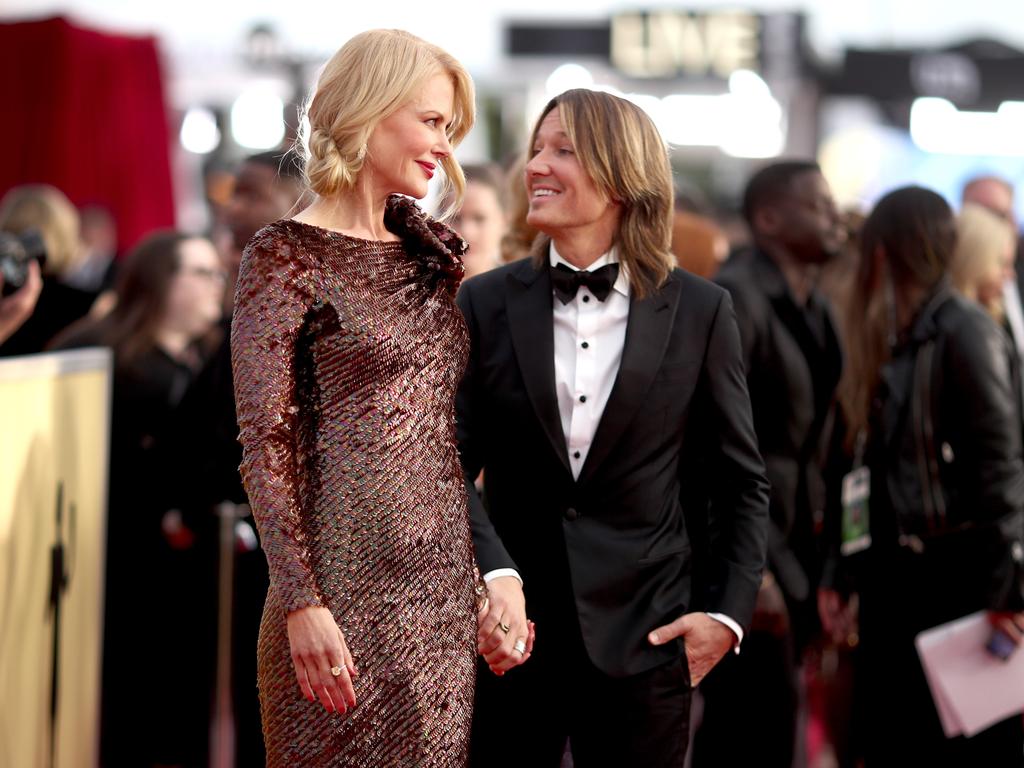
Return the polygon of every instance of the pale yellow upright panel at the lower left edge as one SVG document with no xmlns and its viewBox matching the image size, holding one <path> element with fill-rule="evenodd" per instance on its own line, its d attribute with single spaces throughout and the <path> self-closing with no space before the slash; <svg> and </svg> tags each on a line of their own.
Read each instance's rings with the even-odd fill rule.
<svg viewBox="0 0 1024 768">
<path fill-rule="evenodd" d="M 0 765 L 98 761 L 110 354 L 0 360 Z M 58 487 L 62 488 L 57 525 Z M 66 552 L 50 726 L 54 548 Z"/>
</svg>

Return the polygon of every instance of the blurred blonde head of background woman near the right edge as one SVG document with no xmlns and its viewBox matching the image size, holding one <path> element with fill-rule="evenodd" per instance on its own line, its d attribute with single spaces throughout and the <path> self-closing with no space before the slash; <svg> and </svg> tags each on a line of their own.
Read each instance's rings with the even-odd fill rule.
<svg viewBox="0 0 1024 768">
<path fill-rule="evenodd" d="M 1006 325 L 1002 286 L 1013 278 L 1017 239 L 994 213 L 968 203 L 956 217 L 956 248 L 949 262 L 953 287 Z"/>
</svg>

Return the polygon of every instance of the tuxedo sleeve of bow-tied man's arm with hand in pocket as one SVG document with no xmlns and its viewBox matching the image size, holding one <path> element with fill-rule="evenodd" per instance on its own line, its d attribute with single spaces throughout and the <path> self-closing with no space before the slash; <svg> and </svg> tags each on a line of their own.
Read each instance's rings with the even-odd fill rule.
<svg viewBox="0 0 1024 768">
<path fill-rule="evenodd" d="M 765 565 L 768 481 L 754 432 L 742 354 L 732 300 L 723 291 L 703 371 L 711 411 L 707 449 L 718 452 L 710 489 L 707 609 L 749 628 Z"/>
</svg>

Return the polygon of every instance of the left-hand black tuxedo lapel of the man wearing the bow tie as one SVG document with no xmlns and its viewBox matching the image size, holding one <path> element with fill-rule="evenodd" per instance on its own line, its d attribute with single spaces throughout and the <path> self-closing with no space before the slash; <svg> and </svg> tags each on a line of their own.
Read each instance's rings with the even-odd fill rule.
<svg viewBox="0 0 1024 768">
<path fill-rule="evenodd" d="M 547 239 L 539 239 L 535 253 L 541 247 L 547 253 Z M 526 394 L 544 427 L 551 447 L 566 471 L 569 457 L 562 434 L 562 420 L 558 413 L 555 394 L 555 335 L 551 309 L 551 276 L 546 268 L 532 266 L 534 260 L 523 264 L 523 269 L 506 279 L 506 309 L 509 333 L 515 349 L 519 373 L 522 375 Z"/>
</svg>

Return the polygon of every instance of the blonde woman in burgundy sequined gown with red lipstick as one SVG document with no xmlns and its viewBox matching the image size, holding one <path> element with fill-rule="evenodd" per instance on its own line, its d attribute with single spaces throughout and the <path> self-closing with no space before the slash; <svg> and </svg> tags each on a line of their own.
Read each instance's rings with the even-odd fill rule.
<svg viewBox="0 0 1024 768">
<path fill-rule="evenodd" d="M 465 245 L 408 198 L 473 124 L 473 86 L 404 32 L 352 38 L 308 108 L 314 202 L 250 241 L 231 351 L 242 474 L 270 567 L 270 766 L 458 766 L 476 579 L 454 397 Z"/>
</svg>

